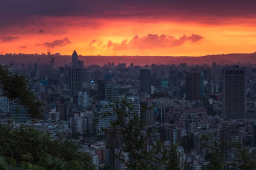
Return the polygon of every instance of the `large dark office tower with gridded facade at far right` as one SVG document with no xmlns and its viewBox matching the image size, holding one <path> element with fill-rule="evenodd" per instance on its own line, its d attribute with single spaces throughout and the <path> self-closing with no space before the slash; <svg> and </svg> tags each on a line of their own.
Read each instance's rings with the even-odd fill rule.
<svg viewBox="0 0 256 170">
<path fill-rule="evenodd" d="M 229 66 L 222 69 L 223 114 L 246 113 L 246 67 Z"/>
</svg>

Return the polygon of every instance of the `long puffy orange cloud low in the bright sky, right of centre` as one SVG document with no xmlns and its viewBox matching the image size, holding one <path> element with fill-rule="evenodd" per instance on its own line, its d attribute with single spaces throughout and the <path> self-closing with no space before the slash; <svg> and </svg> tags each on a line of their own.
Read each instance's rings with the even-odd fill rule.
<svg viewBox="0 0 256 170">
<path fill-rule="evenodd" d="M 131 40 L 124 39 L 120 43 L 113 43 L 108 41 L 104 47 L 112 48 L 113 50 L 132 50 L 136 49 L 152 49 L 152 48 L 172 48 L 173 46 L 182 46 L 184 43 L 190 41 L 191 43 L 196 43 L 200 41 L 203 37 L 198 34 L 192 34 L 191 36 L 180 36 L 175 38 L 169 35 L 158 35 L 158 34 L 148 34 L 147 36 L 139 37 L 134 36 Z M 95 39 L 92 43 L 97 42 Z"/>
</svg>

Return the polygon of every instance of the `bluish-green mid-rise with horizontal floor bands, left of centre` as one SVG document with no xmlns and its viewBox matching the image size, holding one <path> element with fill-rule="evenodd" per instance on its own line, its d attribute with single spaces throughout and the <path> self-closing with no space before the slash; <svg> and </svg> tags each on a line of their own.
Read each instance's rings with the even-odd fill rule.
<svg viewBox="0 0 256 170">
<path fill-rule="evenodd" d="M 118 101 L 120 96 L 120 87 L 118 85 L 107 85 L 106 100 L 109 102 Z"/>
</svg>

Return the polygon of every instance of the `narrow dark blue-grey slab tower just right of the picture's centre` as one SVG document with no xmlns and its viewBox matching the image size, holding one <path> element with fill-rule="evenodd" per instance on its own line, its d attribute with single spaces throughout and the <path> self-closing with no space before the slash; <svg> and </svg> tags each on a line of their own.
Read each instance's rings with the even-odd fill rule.
<svg viewBox="0 0 256 170">
<path fill-rule="evenodd" d="M 150 94 L 150 69 L 140 69 L 140 91 Z"/>
</svg>

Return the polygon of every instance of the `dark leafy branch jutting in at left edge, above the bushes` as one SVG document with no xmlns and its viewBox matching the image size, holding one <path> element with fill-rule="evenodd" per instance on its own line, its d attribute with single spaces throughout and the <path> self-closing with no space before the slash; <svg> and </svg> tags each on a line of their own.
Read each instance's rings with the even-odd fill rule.
<svg viewBox="0 0 256 170">
<path fill-rule="evenodd" d="M 38 100 L 29 89 L 31 80 L 25 76 L 10 71 L 10 66 L 0 65 L 0 88 L 2 95 L 10 101 L 23 104 L 28 108 L 28 115 L 31 118 L 42 117 L 42 102 Z"/>
</svg>

